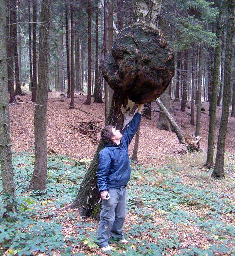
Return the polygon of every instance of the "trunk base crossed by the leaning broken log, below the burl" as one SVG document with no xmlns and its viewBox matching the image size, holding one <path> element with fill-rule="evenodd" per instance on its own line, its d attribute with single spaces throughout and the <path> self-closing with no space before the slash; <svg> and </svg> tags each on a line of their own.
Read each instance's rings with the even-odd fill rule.
<svg viewBox="0 0 235 256">
<path fill-rule="evenodd" d="M 169 98 L 169 87 L 167 87 L 166 91 L 161 95 L 160 97 L 161 102 L 165 106 L 168 112 L 170 112 L 170 98 Z M 172 132 L 171 130 L 171 124 L 169 123 L 166 115 L 162 112 L 160 109 L 159 113 L 159 120 L 158 120 L 158 129 L 167 130 L 169 132 Z"/>
</svg>

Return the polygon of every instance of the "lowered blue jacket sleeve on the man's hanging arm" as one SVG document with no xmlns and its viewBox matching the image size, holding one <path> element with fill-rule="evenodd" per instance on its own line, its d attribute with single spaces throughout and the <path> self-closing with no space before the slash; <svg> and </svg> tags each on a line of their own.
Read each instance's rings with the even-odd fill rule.
<svg viewBox="0 0 235 256">
<path fill-rule="evenodd" d="M 111 161 L 112 159 L 108 153 L 102 151 L 99 153 L 99 164 L 96 172 L 99 192 L 106 191 L 108 189 L 107 177 L 111 166 Z"/>
</svg>

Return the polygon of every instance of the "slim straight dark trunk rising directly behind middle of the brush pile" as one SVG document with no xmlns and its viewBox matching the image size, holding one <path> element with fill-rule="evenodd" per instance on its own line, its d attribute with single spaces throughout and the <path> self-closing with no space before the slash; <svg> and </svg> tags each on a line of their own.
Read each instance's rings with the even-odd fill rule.
<svg viewBox="0 0 235 256">
<path fill-rule="evenodd" d="M 92 40 L 91 40 L 91 0 L 88 0 L 88 81 L 87 81 L 87 100 L 84 102 L 86 105 L 91 104 L 91 87 L 92 87 Z"/>
</svg>

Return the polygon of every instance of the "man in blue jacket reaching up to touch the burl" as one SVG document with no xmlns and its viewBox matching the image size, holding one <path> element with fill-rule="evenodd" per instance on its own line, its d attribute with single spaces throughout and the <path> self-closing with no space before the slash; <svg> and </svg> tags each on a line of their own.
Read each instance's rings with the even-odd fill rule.
<svg viewBox="0 0 235 256">
<path fill-rule="evenodd" d="M 138 105 L 137 113 L 123 134 L 110 125 L 101 132 L 104 148 L 99 153 L 97 178 L 103 205 L 98 228 L 98 245 L 105 252 L 112 249 L 108 244 L 110 236 L 122 243 L 128 243 L 122 233 L 126 215 L 126 185 L 131 174 L 128 146 L 141 122 L 142 109 L 143 104 Z"/>
</svg>

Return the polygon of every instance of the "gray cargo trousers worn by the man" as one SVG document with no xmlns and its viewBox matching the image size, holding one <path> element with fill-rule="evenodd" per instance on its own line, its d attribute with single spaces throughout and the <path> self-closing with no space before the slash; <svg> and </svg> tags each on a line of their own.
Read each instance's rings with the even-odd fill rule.
<svg viewBox="0 0 235 256">
<path fill-rule="evenodd" d="M 126 188 L 110 189 L 110 199 L 103 200 L 98 228 L 98 245 L 108 246 L 110 236 L 122 239 L 122 227 L 126 216 Z"/>
</svg>

